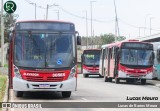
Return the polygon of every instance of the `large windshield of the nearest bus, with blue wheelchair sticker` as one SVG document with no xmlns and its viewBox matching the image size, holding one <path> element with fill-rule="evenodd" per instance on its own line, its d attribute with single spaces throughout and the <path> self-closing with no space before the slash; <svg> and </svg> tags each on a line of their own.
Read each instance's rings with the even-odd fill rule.
<svg viewBox="0 0 160 111">
<path fill-rule="evenodd" d="M 75 63 L 74 34 L 17 32 L 14 64 L 32 68 L 64 68 Z"/>
</svg>

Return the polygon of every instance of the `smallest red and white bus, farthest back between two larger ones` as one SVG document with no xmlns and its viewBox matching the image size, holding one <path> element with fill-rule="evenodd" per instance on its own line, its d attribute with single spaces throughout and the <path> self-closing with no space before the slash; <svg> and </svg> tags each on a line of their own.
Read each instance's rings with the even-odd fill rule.
<svg viewBox="0 0 160 111">
<path fill-rule="evenodd" d="M 86 49 L 81 59 L 81 72 L 83 77 L 99 75 L 100 49 Z"/>
</svg>

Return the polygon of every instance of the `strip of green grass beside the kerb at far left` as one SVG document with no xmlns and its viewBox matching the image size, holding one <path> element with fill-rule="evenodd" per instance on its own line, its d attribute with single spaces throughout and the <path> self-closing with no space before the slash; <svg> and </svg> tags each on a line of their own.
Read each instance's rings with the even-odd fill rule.
<svg viewBox="0 0 160 111">
<path fill-rule="evenodd" d="M 3 102 L 3 97 L 6 88 L 7 76 L 0 74 L 0 102 Z"/>
</svg>

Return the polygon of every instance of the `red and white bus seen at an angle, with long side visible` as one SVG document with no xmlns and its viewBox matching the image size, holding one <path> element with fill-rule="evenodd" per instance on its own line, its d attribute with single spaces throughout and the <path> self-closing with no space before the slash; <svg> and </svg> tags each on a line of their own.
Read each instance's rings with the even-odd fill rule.
<svg viewBox="0 0 160 111">
<path fill-rule="evenodd" d="M 105 82 L 119 83 L 120 80 L 134 82 L 152 79 L 154 53 L 150 43 L 128 40 L 103 45 L 100 59 L 100 74 Z"/>
</svg>

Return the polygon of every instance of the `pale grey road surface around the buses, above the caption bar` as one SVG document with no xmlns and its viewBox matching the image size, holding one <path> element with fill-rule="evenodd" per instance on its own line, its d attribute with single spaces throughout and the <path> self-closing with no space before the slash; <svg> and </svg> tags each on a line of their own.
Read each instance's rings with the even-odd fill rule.
<svg viewBox="0 0 160 111">
<path fill-rule="evenodd" d="M 16 98 L 12 92 L 13 101 L 128 101 L 128 97 L 159 97 L 160 88 L 151 84 L 141 85 L 127 84 L 122 81 L 120 84 L 104 82 L 99 76 L 83 78 L 78 75 L 78 88 L 70 98 L 62 98 L 60 92 L 26 92 L 22 98 Z M 160 97 L 159 97 L 160 99 Z M 158 100 L 159 101 L 159 100 Z"/>
</svg>

